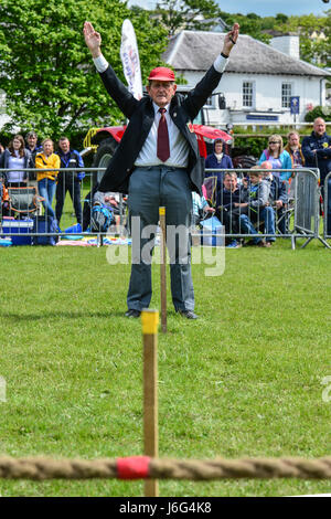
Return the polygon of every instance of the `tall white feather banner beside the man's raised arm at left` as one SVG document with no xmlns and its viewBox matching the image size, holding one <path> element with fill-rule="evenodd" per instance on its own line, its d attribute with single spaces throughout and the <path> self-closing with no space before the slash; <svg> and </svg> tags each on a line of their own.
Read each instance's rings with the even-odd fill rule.
<svg viewBox="0 0 331 519">
<path fill-rule="evenodd" d="M 135 29 L 130 20 L 126 19 L 121 27 L 120 59 L 129 91 L 136 97 L 142 97 L 142 82 L 139 52 Z"/>
</svg>

